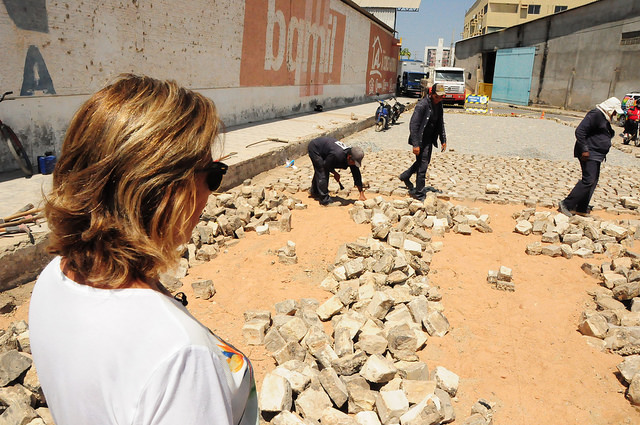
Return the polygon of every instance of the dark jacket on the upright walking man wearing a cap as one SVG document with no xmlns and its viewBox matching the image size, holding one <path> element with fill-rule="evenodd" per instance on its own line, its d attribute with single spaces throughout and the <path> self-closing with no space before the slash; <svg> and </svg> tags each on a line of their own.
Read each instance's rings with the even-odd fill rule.
<svg viewBox="0 0 640 425">
<path fill-rule="evenodd" d="M 427 143 L 438 146 L 438 136 L 440 136 L 440 143 L 447 143 L 442 102 L 433 105 L 431 98 L 427 95 L 418 101 L 411 116 L 409 144 L 413 147 L 425 146 Z"/>
</svg>

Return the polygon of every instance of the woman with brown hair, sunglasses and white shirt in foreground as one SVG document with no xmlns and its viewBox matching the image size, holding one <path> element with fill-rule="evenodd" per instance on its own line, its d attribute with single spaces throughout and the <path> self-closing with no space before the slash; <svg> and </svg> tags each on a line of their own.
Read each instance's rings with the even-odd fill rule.
<svg viewBox="0 0 640 425">
<path fill-rule="evenodd" d="M 258 423 L 248 359 L 158 281 L 227 170 L 221 127 L 211 100 L 135 75 L 73 117 L 45 205 L 57 257 L 29 312 L 56 423 Z"/>
</svg>

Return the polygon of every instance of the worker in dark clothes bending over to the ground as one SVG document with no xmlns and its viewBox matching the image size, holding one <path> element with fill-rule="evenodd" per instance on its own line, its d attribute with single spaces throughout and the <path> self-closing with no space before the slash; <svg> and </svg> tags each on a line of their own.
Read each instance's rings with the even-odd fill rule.
<svg viewBox="0 0 640 425">
<path fill-rule="evenodd" d="M 340 174 L 336 168 L 343 170 L 349 167 L 353 175 L 353 182 L 360 192 L 359 199 L 364 201 L 362 175 L 360 165 L 364 158 L 364 151 L 358 146 L 349 147 L 333 137 L 317 137 L 309 142 L 309 158 L 313 164 L 313 181 L 311 182 L 311 196 L 318 199 L 320 204 L 328 205 L 332 202 L 329 196 L 329 173 L 340 184 Z"/>
</svg>

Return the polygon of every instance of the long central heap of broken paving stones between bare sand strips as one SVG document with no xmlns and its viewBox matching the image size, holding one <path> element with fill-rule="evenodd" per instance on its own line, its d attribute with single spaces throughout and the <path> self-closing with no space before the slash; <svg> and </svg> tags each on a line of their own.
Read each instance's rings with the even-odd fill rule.
<svg viewBox="0 0 640 425">
<path fill-rule="evenodd" d="M 431 235 L 491 231 L 489 217 L 435 194 L 424 202 L 358 201 L 350 214 L 372 234 L 339 249 L 321 283 L 331 298 L 282 301 L 274 316 L 245 313 L 246 341 L 264 344 L 277 364 L 259 391 L 262 417 L 274 425 L 452 422 L 459 377 L 442 366 L 429 371 L 416 354 L 449 331 L 427 277 L 441 244 Z M 461 423 L 487 425 L 493 413 L 480 399 Z"/>
</svg>

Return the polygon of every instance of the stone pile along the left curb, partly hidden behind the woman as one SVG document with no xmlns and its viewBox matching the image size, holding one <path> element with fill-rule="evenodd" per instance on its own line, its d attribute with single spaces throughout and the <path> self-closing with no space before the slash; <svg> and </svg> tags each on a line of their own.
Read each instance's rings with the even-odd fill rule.
<svg viewBox="0 0 640 425">
<path fill-rule="evenodd" d="M 182 286 L 179 279 L 187 275 L 189 267 L 215 258 L 246 231 L 290 231 L 291 211 L 296 208 L 304 206 L 275 190 L 252 186 L 250 180 L 232 193 L 211 196 L 185 247 L 180 267 L 163 275 L 162 283 L 176 292 Z M 197 298 L 209 299 L 215 294 L 211 280 L 199 280 L 192 286 Z M 32 367 L 28 324 L 15 322 L 0 333 L 0 423 L 53 425 Z"/>
</svg>

